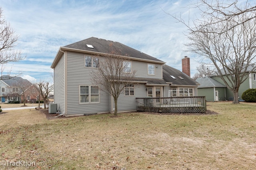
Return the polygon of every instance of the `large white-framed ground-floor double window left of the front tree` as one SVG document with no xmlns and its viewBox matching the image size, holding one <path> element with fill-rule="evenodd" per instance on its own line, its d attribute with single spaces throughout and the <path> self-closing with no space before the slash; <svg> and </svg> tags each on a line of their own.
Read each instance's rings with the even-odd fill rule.
<svg viewBox="0 0 256 170">
<path fill-rule="evenodd" d="M 99 86 L 80 86 L 80 103 L 98 103 Z"/>
</svg>

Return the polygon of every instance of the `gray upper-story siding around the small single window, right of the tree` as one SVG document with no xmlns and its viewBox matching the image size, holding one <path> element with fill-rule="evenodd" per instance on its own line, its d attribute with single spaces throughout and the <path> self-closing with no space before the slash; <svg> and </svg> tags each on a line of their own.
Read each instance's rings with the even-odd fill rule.
<svg viewBox="0 0 256 170">
<path fill-rule="evenodd" d="M 148 64 L 155 65 L 155 74 L 148 75 Z M 158 66 L 158 68 L 156 68 Z M 135 70 L 135 77 L 162 78 L 162 64 L 149 63 L 145 61 L 132 61 L 132 70 Z"/>
</svg>

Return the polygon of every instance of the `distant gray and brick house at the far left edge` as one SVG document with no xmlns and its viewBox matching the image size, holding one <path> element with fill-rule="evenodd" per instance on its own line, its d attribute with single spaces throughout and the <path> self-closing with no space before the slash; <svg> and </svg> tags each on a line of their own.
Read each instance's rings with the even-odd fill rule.
<svg viewBox="0 0 256 170">
<path fill-rule="evenodd" d="M 24 101 L 23 92 L 26 93 L 26 103 L 36 102 L 38 98 L 37 90 L 34 85 L 26 79 L 21 77 L 8 78 L 8 76 L 2 76 L 0 80 L 0 103 L 8 103 L 11 101 Z"/>
</svg>

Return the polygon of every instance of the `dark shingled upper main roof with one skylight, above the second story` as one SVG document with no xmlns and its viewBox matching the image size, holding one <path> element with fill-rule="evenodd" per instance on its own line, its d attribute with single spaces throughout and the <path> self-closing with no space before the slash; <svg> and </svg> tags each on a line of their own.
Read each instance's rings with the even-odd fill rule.
<svg viewBox="0 0 256 170">
<path fill-rule="evenodd" d="M 96 37 L 90 37 L 88 39 L 84 39 L 82 41 L 66 45 L 64 46 L 64 48 L 67 47 L 71 49 L 80 49 L 84 51 L 91 51 L 97 53 L 108 53 L 110 44 L 112 44 L 116 49 L 120 49 L 122 56 L 128 55 L 128 57 L 133 57 L 137 59 L 145 59 L 165 63 L 164 61 L 161 61 L 159 59 L 156 59 L 155 57 L 152 57 L 136 49 L 128 47 L 122 43 L 106 39 L 100 39 Z"/>
</svg>

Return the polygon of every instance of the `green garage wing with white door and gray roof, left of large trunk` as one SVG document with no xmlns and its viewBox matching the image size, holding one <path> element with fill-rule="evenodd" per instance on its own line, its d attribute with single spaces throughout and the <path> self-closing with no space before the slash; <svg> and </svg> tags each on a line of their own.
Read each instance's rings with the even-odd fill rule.
<svg viewBox="0 0 256 170">
<path fill-rule="evenodd" d="M 197 78 L 198 96 L 205 96 L 206 101 L 224 101 L 226 100 L 226 86 L 214 80 L 211 77 Z"/>
</svg>

